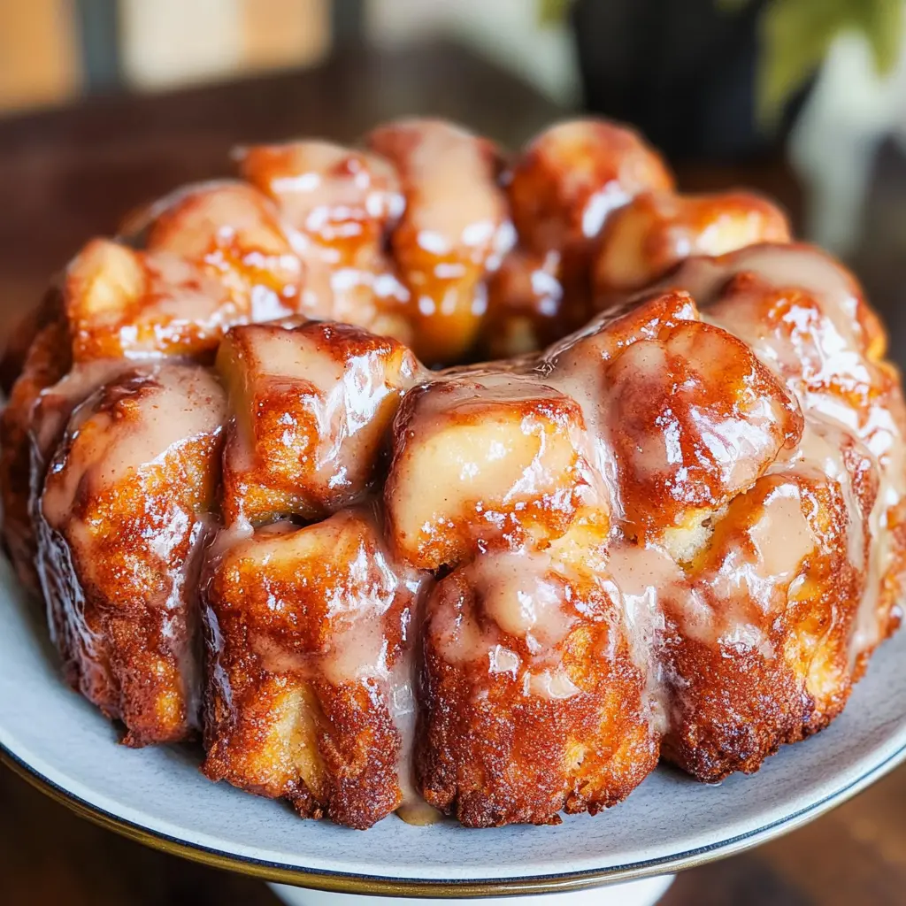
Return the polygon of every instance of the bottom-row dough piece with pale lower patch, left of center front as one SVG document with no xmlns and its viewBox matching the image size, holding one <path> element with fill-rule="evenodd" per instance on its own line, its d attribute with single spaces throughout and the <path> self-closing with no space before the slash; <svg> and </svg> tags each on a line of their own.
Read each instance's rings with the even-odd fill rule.
<svg viewBox="0 0 906 906">
<path fill-rule="evenodd" d="M 204 770 L 367 828 L 402 802 L 394 693 L 423 581 L 363 510 L 262 529 L 205 583 Z"/>
</svg>

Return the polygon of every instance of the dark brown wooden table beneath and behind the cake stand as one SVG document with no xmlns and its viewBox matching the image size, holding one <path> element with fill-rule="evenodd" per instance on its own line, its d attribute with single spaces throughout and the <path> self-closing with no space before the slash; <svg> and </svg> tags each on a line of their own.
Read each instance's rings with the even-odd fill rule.
<svg viewBox="0 0 906 906">
<path fill-rule="evenodd" d="M 323 68 L 153 98 L 110 98 L 0 121 L 0 336 L 47 276 L 123 211 L 228 172 L 241 141 L 352 140 L 407 113 L 462 120 L 517 145 L 562 115 L 523 83 L 446 45 L 345 52 Z M 747 182 L 800 209 L 776 163 L 686 168 L 680 182 Z M 906 163 L 884 149 L 854 266 L 906 364 Z M 606 821 L 606 816 L 602 819 Z M 682 874 L 666 906 L 843 906 L 906 901 L 906 767 L 802 830 Z M 2 906 L 275 903 L 265 885 L 144 849 L 81 821 L 0 769 Z"/>
</svg>

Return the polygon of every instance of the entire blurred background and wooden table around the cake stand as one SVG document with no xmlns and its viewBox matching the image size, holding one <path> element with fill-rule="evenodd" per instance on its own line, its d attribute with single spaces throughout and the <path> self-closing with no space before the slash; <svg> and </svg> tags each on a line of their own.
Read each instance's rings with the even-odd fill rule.
<svg viewBox="0 0 906 906">
<path fill-rule="evenodd" d="M 238 142 L 405 114 L 516 149 L 630 121 L 688 191 L 759 188 L 853 266 L 906 364 L 904 0 L 0 0 L 0 342 L 88 236 Z M 906 773 L 665 901 L 906 902 Z M 0 902 L 275 902 L 0 769 Z"/>
</svg>

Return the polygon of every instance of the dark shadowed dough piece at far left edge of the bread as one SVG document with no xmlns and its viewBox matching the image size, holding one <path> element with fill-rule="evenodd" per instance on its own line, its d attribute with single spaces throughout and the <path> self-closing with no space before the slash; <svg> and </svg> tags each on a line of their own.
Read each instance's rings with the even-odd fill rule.
<svg viewBox="0 0 906 906">
<path fill-rule="evenodd" d="M 31 454 L 28 432 L 42 390 L 59 381 L 69 367 L 68 333 L 62 321 L 44 326 L 34 337 L 22 372 L 0 415 L 0 501 L 3 538 L 19 580 L 38 591 L 34 569 L 37 547 L 29 507 Z"/>
</svg>

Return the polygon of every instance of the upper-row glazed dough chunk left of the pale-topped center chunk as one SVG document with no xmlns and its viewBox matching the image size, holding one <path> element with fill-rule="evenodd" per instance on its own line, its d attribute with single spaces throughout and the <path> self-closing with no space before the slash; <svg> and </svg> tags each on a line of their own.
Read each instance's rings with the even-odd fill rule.
<svg viewBox="0 0 906 906">
<path fill-rule="evenodd" d="M 224 516 L 324 516 L 371 487 L 400 392 L 419 364 L 400 343 L 347 324 L 237 327 L 217 368 L 236 418 Z"/>
</svg>

